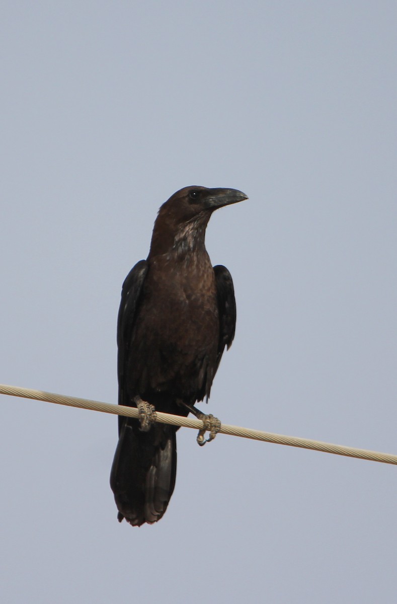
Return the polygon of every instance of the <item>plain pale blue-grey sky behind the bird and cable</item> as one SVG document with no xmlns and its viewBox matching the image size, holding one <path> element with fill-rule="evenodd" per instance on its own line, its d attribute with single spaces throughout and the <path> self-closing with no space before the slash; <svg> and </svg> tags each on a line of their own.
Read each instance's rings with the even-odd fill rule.
<svg viewBox="0 0 397 604">
<path fill-rule="evenodd" d="M 397 452 L 394 1 L 2 2 L 0 381 L 116 402 L 121 284 L 186 185 L 237 335 L 224 423 Z M 178 434 L 116 521 L 116 418 L 1 397 L 8 604 L 396 602 L 397 469 Z"/>
</svg>

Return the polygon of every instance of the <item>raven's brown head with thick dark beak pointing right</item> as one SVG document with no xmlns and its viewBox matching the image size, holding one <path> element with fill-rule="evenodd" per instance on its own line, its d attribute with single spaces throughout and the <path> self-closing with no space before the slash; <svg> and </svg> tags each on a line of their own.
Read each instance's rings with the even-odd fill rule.
<svg viewBox="0 0 397 604">
<path fill-rule="evenodd" d="M 205 229 L 214 210 L 248 199 L 230 188 L 185 187 L 160 207 L 154 223 L 151 254 L 164 253 L 179 243 L 191 247 L 204 243 Z"/>
</svg>

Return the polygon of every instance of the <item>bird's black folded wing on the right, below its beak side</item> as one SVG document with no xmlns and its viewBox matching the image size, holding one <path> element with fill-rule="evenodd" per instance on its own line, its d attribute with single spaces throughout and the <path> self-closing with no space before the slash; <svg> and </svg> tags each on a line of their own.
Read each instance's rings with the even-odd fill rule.
<svg viewBox="0 0 397 604">
<path fill-rule="evenodd" d="M 234 297 L 232 275 L 230 275 L 226 266 L 214 266 L 214 272 L 217 284 L 219 315 L 219 341 L 216 367 L 218 368 L 224 347 L 226 346 L 229 349 L 234 338 L 236 329 L 236 300 Z"/>
</svg>

